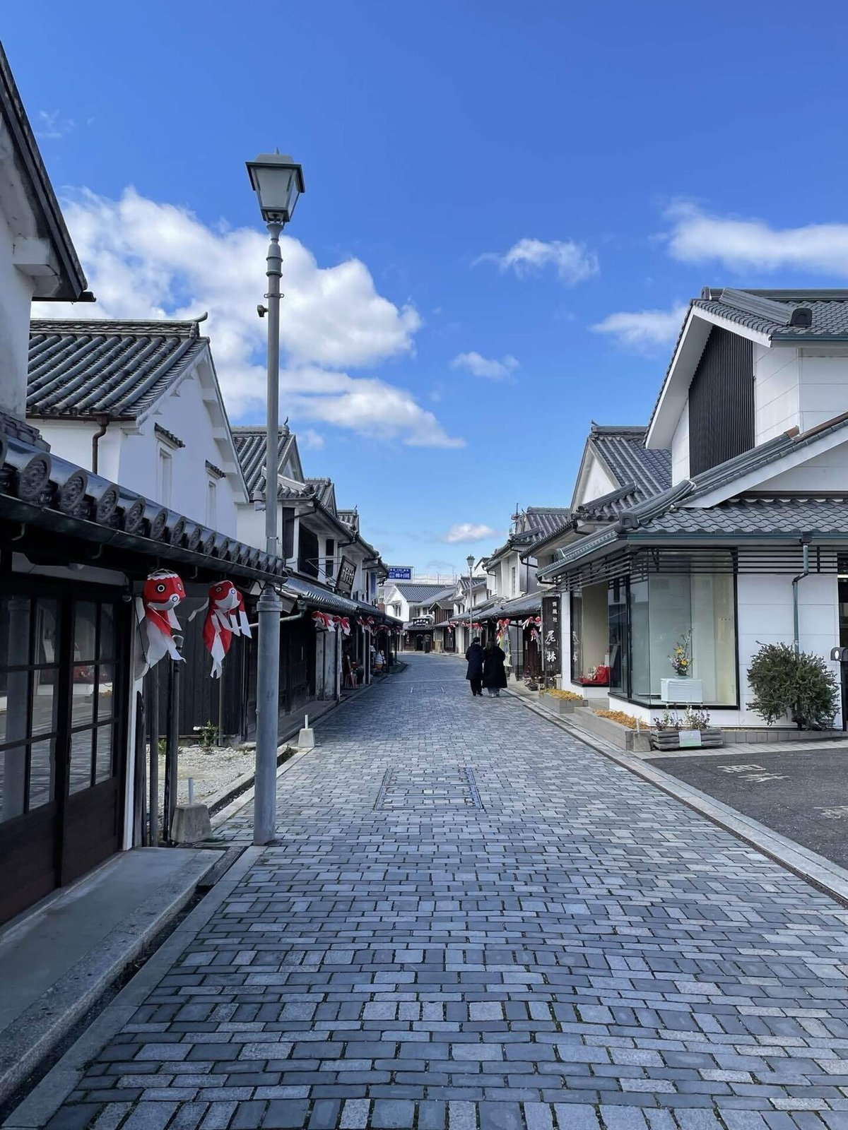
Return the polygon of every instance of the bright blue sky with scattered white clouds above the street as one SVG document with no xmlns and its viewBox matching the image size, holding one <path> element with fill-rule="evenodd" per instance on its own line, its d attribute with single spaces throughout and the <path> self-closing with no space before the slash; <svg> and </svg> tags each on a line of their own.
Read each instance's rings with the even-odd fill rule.
<svg viewBox="0 0 848 1130">
<path fill-rule="evenodd" d="M 303 163 L 283 414 L 431 572 L 566 504 L 591 419 L 647 420 L 701 286 L 847 285 L 848 16 L 806 15 L 95 0 L 16 6 L 3 42 L 103 313 L 209 308 L 234 421 L 261 419 L 243 163 Z"/>
</svg>

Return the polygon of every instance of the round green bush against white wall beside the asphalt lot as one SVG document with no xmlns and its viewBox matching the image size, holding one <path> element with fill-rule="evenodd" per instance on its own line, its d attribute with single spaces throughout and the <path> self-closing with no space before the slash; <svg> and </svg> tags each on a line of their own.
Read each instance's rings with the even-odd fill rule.
<svg viewBox="0 0 848 1130">
<path fill-rule="evenodd" d="M 832 725 L 839 686 L 821 655 L 796 655 L 787 643 L 767 643 L 751 661 L 747 679 L 755 696 L 751 709 L 769 724 L 789 714 L 798 729 Z"/>
</svg>

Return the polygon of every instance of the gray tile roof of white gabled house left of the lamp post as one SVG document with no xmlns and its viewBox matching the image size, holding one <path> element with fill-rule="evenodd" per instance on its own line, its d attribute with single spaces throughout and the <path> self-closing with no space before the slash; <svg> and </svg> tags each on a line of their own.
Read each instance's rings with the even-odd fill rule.
<svg viewBox="0 0 848 1130">
<path fill-rule="evenodd" d="M 33 321 L 27 415 L 136 419 L 208 344 L 197 322 Z"/>
</svg>

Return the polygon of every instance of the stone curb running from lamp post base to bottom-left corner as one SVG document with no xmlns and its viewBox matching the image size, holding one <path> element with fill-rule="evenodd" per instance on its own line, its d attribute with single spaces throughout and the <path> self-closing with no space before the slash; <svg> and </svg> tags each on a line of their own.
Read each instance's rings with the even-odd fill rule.
<svg viewBox="0 0 848 1130">
<path fill-rule="evenodd" d="M 38 1130 L 47 1124 L 83 1078 L 86 1064 L 130 1022 L 136 1009 L 167 975 L 180 954 L 241 883 L 263 850 L 248 847 L 244 851 L 223 879 L 180 923 L 23 1103 L 12 1111 L 3 1122 L 3 1130 Z"/>
</svg>

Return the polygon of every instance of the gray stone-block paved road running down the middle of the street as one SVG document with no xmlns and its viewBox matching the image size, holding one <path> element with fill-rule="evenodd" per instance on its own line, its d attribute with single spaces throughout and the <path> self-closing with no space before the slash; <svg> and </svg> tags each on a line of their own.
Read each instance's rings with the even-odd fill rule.
<svg viewBox="0 0 848 1130">
<path fill-rule="evenodd" d="M 848 1127 L 830 898 L 450 659 L 319 737 L 52 1130 Z"/>
</svg>

